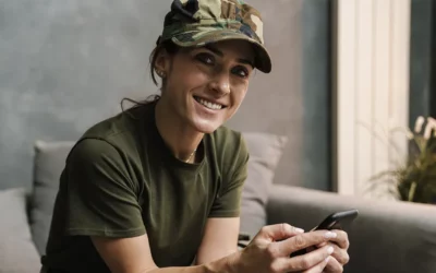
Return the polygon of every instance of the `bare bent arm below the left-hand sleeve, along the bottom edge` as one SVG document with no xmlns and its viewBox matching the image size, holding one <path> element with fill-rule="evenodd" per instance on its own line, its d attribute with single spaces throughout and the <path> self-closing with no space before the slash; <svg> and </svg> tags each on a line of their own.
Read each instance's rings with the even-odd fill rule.
<svg viewBox="0 0 436 273">
<path fill-rule="evenodd" d="M 159 269 L 153 260 L 147 235 L 121 239 L 92 237 L 92 240 L 98 253 L 113 273 L 232 272 L 232 257 L 196 266 Z"/>
</svg>

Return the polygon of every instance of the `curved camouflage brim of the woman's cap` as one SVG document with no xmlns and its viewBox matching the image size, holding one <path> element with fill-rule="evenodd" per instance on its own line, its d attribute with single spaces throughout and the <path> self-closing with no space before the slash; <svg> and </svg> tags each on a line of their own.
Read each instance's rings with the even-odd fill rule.
<svg viewBox="0 0 436 273">
<path fill-rule="evenodd" d="M 196 36 L 198 38 L 193 38 Z M 264 73 L 271 72 L 271 58 L 269 57 L 266 48 L 255 39 L 250 38 L 245 34 L 233 32 L 233 31 L 211 31 L 211 32 L 193 32 L 175 35 L 171 40 L 180 47 L 202 47 L 206 44 L 217 43 L 221 40 L 239 39 L 246 40 L 254 45 L 255 49 L 255 63 L 254 67 Z"/>
</svg>

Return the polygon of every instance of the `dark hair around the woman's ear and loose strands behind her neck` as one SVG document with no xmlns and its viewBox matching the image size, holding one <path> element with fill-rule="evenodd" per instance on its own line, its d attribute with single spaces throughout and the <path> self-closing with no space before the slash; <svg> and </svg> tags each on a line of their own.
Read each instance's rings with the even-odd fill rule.
<svg viewBox="0 0 436 273">
<path fill-rule="evenodd" d="M 157 45 L 155 47 L 155 49 L 153 49 L 153 51 L 149 56 L 149 73 L 150 73 L 153 82 L 156 85 L 158 85 L 158 82 L 156 80 L 156 71 L 155 71 L 157 57 L 159 56 L 159 54 L 162 50 L 166 50 L 169 55 L 175 55 L 179 51 L 179 49 L 180 49 L 180 47 L 178 45 L 175 45 L 174 43 L 172 43 L 171 40 L 164 41 L 164 43 Z M 164 85 L 165 85 L 165 80 L 162 81 L 162 86 Z M 132 108 L 135 108 L 138 106 L 143 106 L 143 105 L 159 100 L 159 98 L 160 98 L 160 95 L 150 95 L 146 99 L 137 102 L 132 98 L 124 97 L 123 99 L 121 99 L 121 109 L 122 109 L 122 111 L 124 111 L 124 107 L 123 107 L 124 100 L 132 103 L 133 104 Z"/>
</svg>

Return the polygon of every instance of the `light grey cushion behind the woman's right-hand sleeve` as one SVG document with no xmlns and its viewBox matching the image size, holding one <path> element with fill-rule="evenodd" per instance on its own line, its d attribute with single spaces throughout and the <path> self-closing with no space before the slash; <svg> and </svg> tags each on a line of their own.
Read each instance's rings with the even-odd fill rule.
<svg viewBox="0 0 436 273">
<path fill-rule="evenodd" d="M 244 132 L 243 136 L 250 159 L 242 191 L 241 233 L 253 238 L 266 225 L 268 193 L 288 138 L 259 132 Z"/>
</svg>

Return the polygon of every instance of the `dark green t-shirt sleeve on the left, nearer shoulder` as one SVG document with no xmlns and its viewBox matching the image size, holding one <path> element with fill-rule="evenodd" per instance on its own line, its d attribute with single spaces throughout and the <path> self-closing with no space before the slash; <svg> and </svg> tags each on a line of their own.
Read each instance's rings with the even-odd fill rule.
<svg viewBox="0 0 436 273">
<path fill-rule="evenodd" d="M 129 159 L 104 140 L 85 139 L 66 161 L 66 235 L 135 237 L 145 234 Z"/>
</svg>

